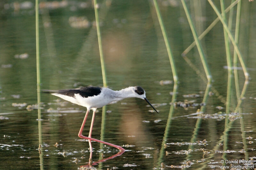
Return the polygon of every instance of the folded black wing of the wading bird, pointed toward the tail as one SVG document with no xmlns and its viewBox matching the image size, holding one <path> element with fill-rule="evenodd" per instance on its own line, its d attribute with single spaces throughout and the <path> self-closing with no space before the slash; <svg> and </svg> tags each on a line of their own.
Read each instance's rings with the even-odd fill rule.
<svg viewBox="0 0 256 170">
<path fill-rule="evenodd" d="M 76 89 L 65 90 L 41 90 L 43 93 L 59 93 L 66 96 L 74 97 L 75 94 L 80 94 L 82 97 L 87 98 L 94 95 L 99 95 L 101 87 L 79 87 Z"/>
</svg>

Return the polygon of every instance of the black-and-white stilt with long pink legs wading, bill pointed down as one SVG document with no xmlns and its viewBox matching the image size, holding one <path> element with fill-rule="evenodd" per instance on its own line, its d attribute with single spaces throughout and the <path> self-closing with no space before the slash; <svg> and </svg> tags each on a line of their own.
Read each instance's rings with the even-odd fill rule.
<svg viewBox="0 0 256 170">
<path fill-rule="evenodd" d="M 88 139 L 89 145 L 90 145 L 90 151 L 92 151 L 91 140 L 116 147 L 121 151 L 125 151 L 125 149 L 122 148 L 121 146 L 110 144 L 110 143 L 100 141 L 98 139 L 94 139 L 91 137 L 95 111 L 97 108 L 103 107 L 112 101 L 123 100 L 125 98 L 131 98 L 131 97 L 137 97 L 137 98 L 143 99 L 146 102 L 148 102 L 148 104 L 151 107 L 153 107 L 148 101 L 148 99 L 146 98 L 145 90 L 140 86 L 127 87 L 119 91 L 114 91 L 105 87 L 80 87 L 76 89 L 65 89 L 65 90 L 41 90 L 41 92 L 51 93 L 54 96 L 58 96 L 64 100 L 68 100 L 72 103 L 75 103 L 87 108 L 84 121 L 78 133 L 78 137 L 81 137 L 83 139 Z M 85 137 L 82 135 L 82 131 L 84 129 L 84 124 L 86 122 L 87 115 L 91 109 L 93 110 L 91 128 L 89 131 L 89 136 Z M 153 109 L 156 111 L 154 107 Z"/>
</svg>

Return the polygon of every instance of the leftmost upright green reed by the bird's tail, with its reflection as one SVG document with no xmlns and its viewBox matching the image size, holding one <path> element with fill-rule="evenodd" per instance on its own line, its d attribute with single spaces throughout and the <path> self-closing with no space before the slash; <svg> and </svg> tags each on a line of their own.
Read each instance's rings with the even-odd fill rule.
<svg viewBox="0 0 256 170">
<path fill-rule="evenodd" d="M 36 0 L 36 84 L 37 92 L 40 92 L 40 58 L 39 58 L 39 14 L 38 14 L 38 0 Z M 41 122 L 41 96 L 37 93 L 37 118 L 38 118 L 38 143 L 39 147 L 42 145 L 42 122 Z M 39 150 L 40 169 L 43 167 L 43 151 Z"/>
</svg>

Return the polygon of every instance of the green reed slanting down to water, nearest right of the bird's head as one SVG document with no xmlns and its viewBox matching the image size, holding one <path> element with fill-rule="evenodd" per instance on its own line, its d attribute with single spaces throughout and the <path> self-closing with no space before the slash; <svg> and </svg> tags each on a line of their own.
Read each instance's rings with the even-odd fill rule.
<svg viewBox="0 0 256 170">
<path fill-rule="evenodd" d="M 161 12 L 159 10 L 157 1 L 153 0 L 153 2 L 154 2 L 154 5 L 155 5 L 157 18 L 158 18 L 158 21 L 159 21 L 159 24 L 160 24 L 160 27 L 161 27 L 161 30 L 162 30 L 162 33 L 163 33 L 165 46 L 166 46 L 167 53 L 168 53 L 168 56 L 169 56 L 169 60 L 170 60 L 171 68 L 172 68 L 173 81 L 178 82 L 178 75 L 177 75 L 177 72 L 176 72 L 174 58 L 173 58 L 171 46 L 170 46 L 170 43 L 169 43 L 169 40 L 168 40 L 168 36 L 166 34 L 166 29 L 164 27 L 164 22 L 163 22 L 163 19 L 162 19 L 162 16 L 161 16 Z"/>
</svg>

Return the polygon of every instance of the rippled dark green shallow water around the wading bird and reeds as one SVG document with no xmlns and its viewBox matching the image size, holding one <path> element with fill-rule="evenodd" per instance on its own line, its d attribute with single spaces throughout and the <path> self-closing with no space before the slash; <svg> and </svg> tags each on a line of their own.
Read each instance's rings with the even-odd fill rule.
<svg viewBox="0 0 256 170">
<path fill-rule="evenodd" d="M 0 169 L 85 169 L 89 164 L 89 144 L 77 136 L 86 111 L 84 107 L 41 94 L 42 126 L 38 128 L 35 11 L 34 1 L 31 2 L 0 3 Z M 39 18 L 41 89 L 102 86 L 91 1 L 60 2 L 55 2 L 55 6 L 47 4 L 48 7 L 41 4 L 44 7 Z M 226 6 L 230 4 L 225 2 Z M 220 169 L 222 159 L 255 160 L 255 6 L 242 2 L 238 43 L 250 80 L 244 82 L 238 65 L 239 90 L 241 93 L 246 89 L 246 92 L 238 113 L 233 113 L 237 106 L 233 75 L 230 111 L 226 114 L 228 70 L 221 24 L 201 41 L 213 78 L 209 92 L 205 92 L 207 85 L 200 75 L 206 77 L 196 47 L 187 56 L 200 70 L 199 74 L 181 57 L 193 42 L 181 3 L 158 3 L 179 76 L 177 92 L 153 4 L 100 1 L 109 88 L 142 86 L 159 114 L 151 112 L 145 101 L 130 98 L 107 105 L 102 125 L 102 108 L 99 108 L 92 137 L 123 146 L 127 151 L 122 153 L 92 142 L 92 166 L 97 169 Z M 195 4 L 188 5 L 192 17 L 195 18 L 197 11 L 198 32 L 216 18 L 207 2 L 202 4 L 202 15 Z M 235 20 L 232 31 L 234 27 Z M 233 48 L 231 52 L 233 56 Z M 171 103 L 173 91 L 177 102 L 174 104 Z M 205 93 L 207 100 L 203 103 Z M 200 108 L 204 112 L 197 112 Z M 91 116 L 84 135 L 89 133 Z M 39 129 L 42 134 L 38 133 Z M 42 137 L 40 145 L 39 137 Z"/>
</svg>

